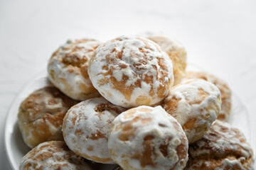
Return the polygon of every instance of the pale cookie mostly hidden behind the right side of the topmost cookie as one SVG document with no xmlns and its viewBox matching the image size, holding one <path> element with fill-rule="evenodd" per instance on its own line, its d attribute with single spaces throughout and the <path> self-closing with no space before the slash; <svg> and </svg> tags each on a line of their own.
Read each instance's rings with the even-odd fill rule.
<svg viewBox="0 0 256 170">
<path fill-rule="evenodd" d="M 148 35 L 149 40 L 156 42 L 161 47 L 161 50 L 166 52 L 174 66 L 174 85 L 181 82 L 181 79 L 186 76 L 186 59 L 187 53 L 185 47 L 173 38 L 167 38 L 164 35 Z"/>
</svg>

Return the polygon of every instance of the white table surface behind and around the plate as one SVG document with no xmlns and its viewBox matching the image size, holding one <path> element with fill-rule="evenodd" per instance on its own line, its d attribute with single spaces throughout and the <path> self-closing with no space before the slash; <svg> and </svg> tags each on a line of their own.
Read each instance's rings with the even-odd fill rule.
<svg viewBox="0 0 256 170">
<path fill-rule="evenodd" d="M 188 51 L 188 62 L 222 77 L 250 111 L 256 148 L 256 1 L 0 0 L 0 169 L 9 170 L 4 124 L 11 101 L 46 69 L 68 38 L 108 40 L 163 31 Z"/>
</svg>

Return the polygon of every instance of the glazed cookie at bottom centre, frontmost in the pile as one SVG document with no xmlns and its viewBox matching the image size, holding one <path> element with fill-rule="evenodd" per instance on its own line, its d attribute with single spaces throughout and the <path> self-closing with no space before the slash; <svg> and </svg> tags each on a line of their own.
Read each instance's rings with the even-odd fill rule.
<svg viewBox="0 0 256 170">
<path fill-rule="evenodd" d="M 108 147 L 114 162 L 124 170 L 178 170 L 188 160 L 186 135 L 161 106 L 139 106 L 118 115 Z"/>
</svg>

